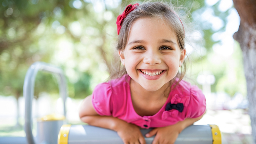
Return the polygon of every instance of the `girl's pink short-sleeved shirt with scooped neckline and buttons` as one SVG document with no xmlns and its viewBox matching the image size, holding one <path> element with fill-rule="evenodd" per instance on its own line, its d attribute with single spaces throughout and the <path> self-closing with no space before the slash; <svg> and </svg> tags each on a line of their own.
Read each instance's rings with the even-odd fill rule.
<svg viewBox="0 0 256 144">
<path fill-rule="evenodd" d="M 132 105 L 129 75 L 97 85 L 92 93 L 92 104 L 101 116 L 113 116 L 141 128 L 165 127 L 185 118 L 196 118 L 205 112 L 205 96 L 197 86 L 181 81 L 169 94 L 163 107 L 153 116 L 139 116 Z M 184 109 L 165 110 L 167 103 L 183 103 Z"/>
</svg>

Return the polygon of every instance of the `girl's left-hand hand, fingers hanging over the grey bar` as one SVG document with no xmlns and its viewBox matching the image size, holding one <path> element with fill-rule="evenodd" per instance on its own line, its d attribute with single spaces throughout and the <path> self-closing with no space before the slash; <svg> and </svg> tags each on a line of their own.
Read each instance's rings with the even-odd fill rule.
<svg viewBox="0 0 256 144">
<path fill-rule="evenodd" d="M 134 124 L 119 125 L 116 132 L 122 138 L 124 144 L 146 144 L 140 128 Z"/>
</svg>

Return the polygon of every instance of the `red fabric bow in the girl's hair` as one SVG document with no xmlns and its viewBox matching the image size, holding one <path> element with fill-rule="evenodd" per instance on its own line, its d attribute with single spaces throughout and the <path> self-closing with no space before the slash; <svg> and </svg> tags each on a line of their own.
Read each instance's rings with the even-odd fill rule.
<svg viewBox="0 0 256 144">
<path fill-rule="evenodd" d="M 134 5 L 128 5 L 124 12 L 119 15 L 116 19 L 116 25 L 117 25 L 117 34 L 119 35 L 119 31 L 121 29 L 121 25 L 123 23 L 123 19 L 128 15 L 130 14 L 131 11 L 133 11 L 134 9 L 137 8 L 137 6 L 139 6 L 139 3 L 135 3 Z"/>
</svg>

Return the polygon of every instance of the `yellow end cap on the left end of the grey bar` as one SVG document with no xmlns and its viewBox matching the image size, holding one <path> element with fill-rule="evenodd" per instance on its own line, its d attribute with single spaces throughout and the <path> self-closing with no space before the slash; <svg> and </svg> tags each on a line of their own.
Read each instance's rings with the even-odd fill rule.
<svg viewBox="0 0 256 144">
<path fill-rule="evenodd" d="M 68 134 L 71 125 L 62 125 L 59 130 L 58 144 L 68 144 Z"/>
</svg>

